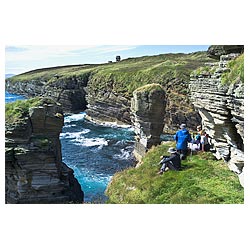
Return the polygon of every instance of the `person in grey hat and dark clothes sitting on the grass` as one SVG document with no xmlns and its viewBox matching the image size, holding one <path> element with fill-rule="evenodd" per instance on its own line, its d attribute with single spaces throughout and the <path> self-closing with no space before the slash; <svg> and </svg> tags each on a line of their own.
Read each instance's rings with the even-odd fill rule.
<svg viewBox="0 0 250 250">
<path fill-rule="evenodd" d="M 160 172 L 158 172 L 158 174 L 163 174 L 168 170 L 175 170 L 175 171 L 181 170 L 180 154 L 174 148 L 169 148 L 168 153 L 170 153 L 171 155 L 161 156 L 161 161 L 159 162 L 159 164 L 162 164 L 162 167 L 160 169 Z"/>
</svg>

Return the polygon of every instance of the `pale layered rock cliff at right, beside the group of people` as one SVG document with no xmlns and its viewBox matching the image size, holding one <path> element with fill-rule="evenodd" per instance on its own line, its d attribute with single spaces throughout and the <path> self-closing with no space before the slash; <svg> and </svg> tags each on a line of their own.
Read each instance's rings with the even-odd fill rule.
<svg viewBox="0 0 250 250">
<path fill-rule="evenodd" d="M 221 83 L 229 72 L 228 62 L 239 54 L 222 55 L 218 63 L 193 74 L 190 80 L 191 100 L 202 117 L 202 126 L 212 137 L 215 155 L 228 162 L 229 168 L 241 174 L 244 167 L 244 83 Z M 242 180 L 242 174 L 241 174 Z M 243 183 L 243 181 L 241 181 Z"/>
</svg>

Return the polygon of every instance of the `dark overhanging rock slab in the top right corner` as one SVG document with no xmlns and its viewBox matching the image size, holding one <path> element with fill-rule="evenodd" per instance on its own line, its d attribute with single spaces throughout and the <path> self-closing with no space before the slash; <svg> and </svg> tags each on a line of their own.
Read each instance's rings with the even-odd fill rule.
<svg viewBox="0 0 250 250">
<path fill-rule="evenodd" d="M 211 58 L 220 59 L 220 56 L 231 53 L 243 53 L 244 45 L 211 45 L 207 54 Z"/>
</svg>

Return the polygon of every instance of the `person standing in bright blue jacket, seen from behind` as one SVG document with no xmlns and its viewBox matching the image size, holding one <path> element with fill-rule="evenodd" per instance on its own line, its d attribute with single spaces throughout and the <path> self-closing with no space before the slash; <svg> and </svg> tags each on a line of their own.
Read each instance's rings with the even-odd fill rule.
<svg viewBox="0 0 250 250">
<path fill-rule="evenodd" d="M 186 128 L 186 124 L 181 124 L 180 130 L 174 135 L 176 141 L 177 152 L 180 153 L 181 159 L 184 160 L 188 153 L 188 142 L 192 141 L 192 137 Z"/>
</svg>

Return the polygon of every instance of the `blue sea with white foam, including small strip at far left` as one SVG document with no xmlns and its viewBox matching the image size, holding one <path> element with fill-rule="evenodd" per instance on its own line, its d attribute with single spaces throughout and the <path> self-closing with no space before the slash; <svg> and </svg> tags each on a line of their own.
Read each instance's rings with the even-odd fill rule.
<svg viewBox="0 0 250 250">
<path fill-rule="evenodd" d="M 5 92 L 5 103 L 25 99 Z M 60 134 L 62 160 L 74 170 L 85 203 L 105 203 L 113 175 L 134 165 L 134 131 L 130 126 L 98 125 L 85 113 L 66 115 Z"/>
</svg>

